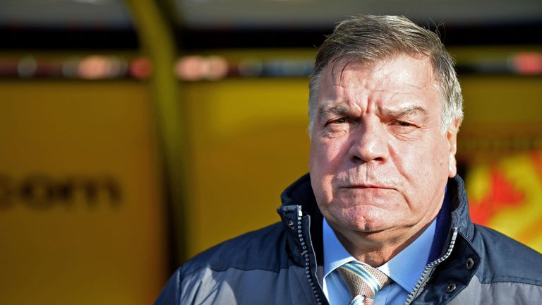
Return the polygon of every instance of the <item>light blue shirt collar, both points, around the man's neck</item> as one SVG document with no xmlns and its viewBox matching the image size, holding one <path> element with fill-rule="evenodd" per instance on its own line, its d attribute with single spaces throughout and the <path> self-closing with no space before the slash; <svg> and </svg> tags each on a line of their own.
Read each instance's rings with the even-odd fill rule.
<svg viewBox="0 0 542 305">
<path fill-rule="evenodd" d="M 435 227 L 435 220 L 433 220 L 429 227 L 412 244 L 409 244 L 378 269 L 407 292 L 410 292 L 414 289 L 418 278 L 428 263 L 431 244 L 433 244 L 433 237 L 435 236 Z M 356 261 L 347 249 L 344 249 L 325 218 L 323 220 L 323 244 L 324 277 L 344 263 Z"/>
</svg>

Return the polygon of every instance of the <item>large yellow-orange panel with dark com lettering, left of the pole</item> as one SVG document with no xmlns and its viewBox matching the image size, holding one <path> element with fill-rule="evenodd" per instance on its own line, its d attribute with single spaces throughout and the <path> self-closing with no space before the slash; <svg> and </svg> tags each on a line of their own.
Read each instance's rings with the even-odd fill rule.
<svg viewBox="0 0 542 305">
<path fill-rule="evenodd" d="M 0 83 L 0 304 L 155 299 L 167 256 L 147 94 Z"/>
</svg>

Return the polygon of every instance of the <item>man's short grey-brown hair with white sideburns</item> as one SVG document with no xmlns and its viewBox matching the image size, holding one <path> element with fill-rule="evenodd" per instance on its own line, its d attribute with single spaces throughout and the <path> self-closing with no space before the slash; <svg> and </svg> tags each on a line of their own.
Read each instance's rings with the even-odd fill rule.
<svg viewBox="0 0 542 305">
<path fill-rule="evenodd" d="M 463 119 L 463 96 L 454 61 L 438 35 L 404 16 L 354 16 L 342 21 L 318 49 L 309 82 L 308 126 L 312 134 L 318 84 L 323 69 L 336 61 L 375 64 L 398 54 L 428 58 L 440 87 L 440 126 L 445 133 L 452 122 Z"/>
</svg>

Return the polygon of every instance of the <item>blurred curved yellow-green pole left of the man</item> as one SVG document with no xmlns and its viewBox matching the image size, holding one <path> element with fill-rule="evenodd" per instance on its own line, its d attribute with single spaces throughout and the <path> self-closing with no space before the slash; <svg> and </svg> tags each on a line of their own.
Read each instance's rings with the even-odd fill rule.
<svg viewBox="0 0 542 305">
<path fill-rule="evenodd" d="M 152 61 L 150 78 L 155 122 L 159 133 L 162 165 L 166 181 L 166 198 L 169 199 L 169 220 L 173 221 L 174 263 L 186 259 L 186 236 L 183 228 L 186 210 L 186 128 L 183 125 L 183 103 L 179 83 L 174 75 L 176 49 L 174 35 L 163 11 L 153 0 L 126 0 L 131 9 L 143 52 Z M 172 217 L 171 217 L 172 216 Z M 177 261 L 175 261 L 177 260 Z"/>
</svg>

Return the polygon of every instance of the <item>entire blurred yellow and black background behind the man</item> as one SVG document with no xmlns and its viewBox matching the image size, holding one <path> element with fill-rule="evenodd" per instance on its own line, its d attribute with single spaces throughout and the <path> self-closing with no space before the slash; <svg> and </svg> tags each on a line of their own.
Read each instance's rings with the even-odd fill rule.
<svg viewBox="0 0 542 305">
<path fill-rule="evenodd" d="M 539 0 L 0 0 L 0 304 L 151 304 L 276 222 L 316 48 L 356 13 L 440 32 L 471 215 L 542 251 Z"/>
</svg>

